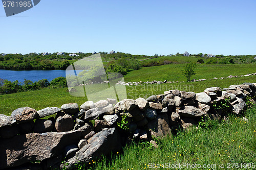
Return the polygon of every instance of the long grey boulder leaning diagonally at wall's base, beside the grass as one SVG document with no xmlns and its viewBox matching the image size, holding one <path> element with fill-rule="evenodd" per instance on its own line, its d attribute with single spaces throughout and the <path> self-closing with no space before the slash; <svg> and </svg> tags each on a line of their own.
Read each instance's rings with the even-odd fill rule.
<svg viewBox="0 0 256 170">
<path fill-rule="evenodd" d="M 96 157 L 115 152 L 119 149 L 121 149 L 121 144 L 116 129 L 104 129 L 93 135 L 88 144 L 76 152 L 73 158 L 68 159 L 65 167 L 72 169 L 79 161 L 88 165 Z"/>
</svg>

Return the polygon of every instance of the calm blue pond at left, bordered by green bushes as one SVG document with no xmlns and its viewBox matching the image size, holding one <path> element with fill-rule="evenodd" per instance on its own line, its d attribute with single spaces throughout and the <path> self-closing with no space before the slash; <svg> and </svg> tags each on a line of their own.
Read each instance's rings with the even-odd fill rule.
<svg viewBox="0 0 256 170">
<path fill-rule="evenodd" d="M 47 79 L 49 82 L 57 77 L 66 77 L 66 70 L 4 70 L 0 69 L 0 78 L 9 81 L 18 80 L 23 82 L 24 79 L 36 82 L 38 80 Z"/>
</svg>

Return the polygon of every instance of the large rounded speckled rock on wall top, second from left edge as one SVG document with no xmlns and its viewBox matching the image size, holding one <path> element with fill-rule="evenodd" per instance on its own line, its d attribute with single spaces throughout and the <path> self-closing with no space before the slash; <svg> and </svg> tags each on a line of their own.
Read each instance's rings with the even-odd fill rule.
<svg viewBox="0 0 256 170">
<path fill-rule="evenodd" d="M 22 107 L 14 110 L 11 116 L 17 123 L 30 122 L 36 119 L 39 115 L 35 109 L 30 107 Z"/>
</svg>

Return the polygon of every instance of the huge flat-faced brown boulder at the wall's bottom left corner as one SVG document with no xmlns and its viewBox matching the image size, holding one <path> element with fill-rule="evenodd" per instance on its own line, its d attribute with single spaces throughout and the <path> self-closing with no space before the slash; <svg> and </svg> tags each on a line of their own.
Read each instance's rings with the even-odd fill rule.
<svg viewBox="0 0 256 170">
<path fill-rule="evenodd" d="M 0 169 L 19 166 L 57 156 L 63 149 L 78 143 L 81 132 L 31 133 L 0 140 Z"/>
</svg>

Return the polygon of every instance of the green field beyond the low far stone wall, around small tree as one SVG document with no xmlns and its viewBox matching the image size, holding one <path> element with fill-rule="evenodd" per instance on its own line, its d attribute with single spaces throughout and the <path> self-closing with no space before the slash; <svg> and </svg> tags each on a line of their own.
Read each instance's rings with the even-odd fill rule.
<svg viewBox="0 0 256 170">
<path fill-rule="evenodd" d="M 181 74 L 185 64 L 167 64 L 153 67 L 143 67 L 134 70 L 125 75 L 124 80 L 127 82 L 139 81 L 186 81 Z M 229 75 L 240 76 L 256 72 L 255 64 L 198 64 L 195 68 L 196 75 L 191 79 L 212 79 L 228 77 Z"/>
</svg>

